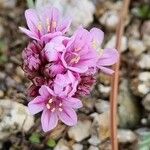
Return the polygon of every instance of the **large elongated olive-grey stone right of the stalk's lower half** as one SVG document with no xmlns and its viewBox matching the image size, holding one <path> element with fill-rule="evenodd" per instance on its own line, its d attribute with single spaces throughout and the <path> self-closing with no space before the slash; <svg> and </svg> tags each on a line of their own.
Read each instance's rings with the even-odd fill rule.
<svg viewBox="0 0 150 150">
<path fill-rule="evenodd" d="M 124 79 L 119 88 L 119 126 L 121 128 L 135 128 L 141 120 L 139 101 L 131 94 L 129 83 Z"/>
</svg>

